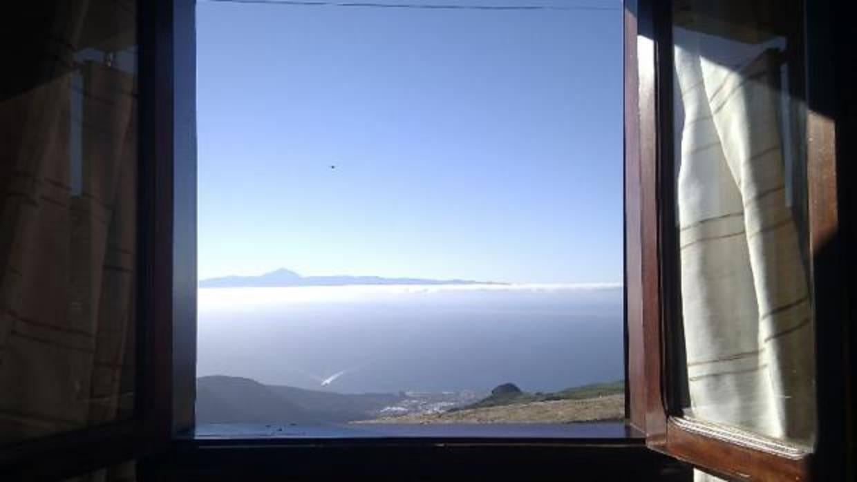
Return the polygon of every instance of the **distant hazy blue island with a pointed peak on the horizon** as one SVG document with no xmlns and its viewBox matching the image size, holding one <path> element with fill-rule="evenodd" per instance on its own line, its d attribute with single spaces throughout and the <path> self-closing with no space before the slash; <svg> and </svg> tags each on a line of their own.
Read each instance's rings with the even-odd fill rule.
<svg viewBox="0 0 857 482">
<path fill-rule="evenodd" d="M 279 269 L 255 277 L 214 277 L 200 280 L 200 288 L 273 288 L 287 286 L 347 286 L 352 284 L 506 284 L 471 281 L 464 279 L 423 279 L 423 278 L 386 278 L 386 277 L 302 277 L 295 271 Z"/>
</svg>

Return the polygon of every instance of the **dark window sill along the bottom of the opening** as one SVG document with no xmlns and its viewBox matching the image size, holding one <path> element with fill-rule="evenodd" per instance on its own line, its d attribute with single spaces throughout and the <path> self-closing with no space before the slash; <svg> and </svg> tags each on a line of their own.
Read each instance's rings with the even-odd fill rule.
<svg viewBox="0 0 857 482">
<path fill-rule="evenodd" d="M 282 429 L 282 430 L 278 430 Z M 580 479 L 687 482 L 624 422 L 201 425 L 142 461 L 147 480 Z"/>
</svg>

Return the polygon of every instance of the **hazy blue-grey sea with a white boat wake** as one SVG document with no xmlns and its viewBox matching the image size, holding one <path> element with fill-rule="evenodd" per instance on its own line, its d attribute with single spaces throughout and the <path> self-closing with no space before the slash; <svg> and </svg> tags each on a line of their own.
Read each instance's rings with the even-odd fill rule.
<svg viewBox="0 0 857 482">
<path fill-rule="evenodd" d="M 615 284 L 199 289 L 197 375 L 340 393 L 615 381 L 622 300 Z"/>
</svg>

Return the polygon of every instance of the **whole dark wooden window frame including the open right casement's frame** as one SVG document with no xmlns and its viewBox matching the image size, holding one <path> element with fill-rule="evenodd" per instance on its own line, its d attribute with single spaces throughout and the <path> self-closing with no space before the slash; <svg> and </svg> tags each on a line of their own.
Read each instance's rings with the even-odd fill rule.
<svg viewBox="0 0 857 482">
<path fill-rule="evenodd" d="M 853 166 L 836 163 L 836 158 L 854 158 L 855 153 L 854 93 L 845 87 L 855 85 L 855 78 L 836 70 L 850 52 L 853 36 L 846 23 L 850 17 L 832 15 L 830 3 L 815 3 L 807 11 L 812 19 L 807 21 L 807 71 L 812 72 L 809 190 L 814 201 L 817 342 L 823 348 L 818 355 L 818 400 L 830 405 L 824 406 L 819 420 L 812 460 L 799 463 L 677 422 L 676 408 L 668 400 L 666 341 L 672 336 L 669 322 L 675 313 L 664 302 L 669 289 L 662 273 L 670 269 L 670 260 L 662 256 L 668 243 L 663 229 L 668 212 L 660 201 L 672 183 L 662 179 L 672 149 L 671 136 L 665 135 L 672 129 L 672 117 L 671 91 L 669 96 L 658 92 L 671 81 L 672 54 L 670 3 L 659 0 L 626 0 L 624 12 L 626 425 L 631 437 L 203 442 L 182 436 L 193 428 L 195 411 L 195 0 L 139 4 L 142 302 L 135 417 L 0 450 L 0 474 L 58 478 L 130 458 L 141 461 L 141 479 L 153 480 L 226 480 L 236 474 L 259 479 L 296 473 L 313 477 L 320 468 L 387 478 L 516 471 L 549 476 L 573 468 L 580 476 L 611 479 L 612 474 L 619 479 L 627 475 L 627 467 L 637 469 L 636 479 L 670 474 L 687 479 L 687 466 L 674 459 L 737 479 L 800 479 L 812 473 L 818 480 L 839 480 L 853 474 L 848 460 L 857 458 L 854 417 L 846 408 L 852 393 L 848 374 L 854 372 L 854 352 L 848 351 L 854 344 L 848 342 L 854 331 L 848 331 L 842 320 L 855 319 L 854 304 L 843 300 L 848 290 L 857 292 L 857 286 L 842 263 L 842 256 L 848 255 L 845 265 L 854 265 L 854 250 L 842 253 L 842 247 L 857 241 L 854 223 L 846 223 L 843 215 L 855 212 L 857 192 L 836 188 L 855 179 Z M 838 28 L 825 30 L 825 22 L 832 18 Z M 836 55 L 812 55 L 825 48 Z M 835 75 L 841 79 L 837 88 L 824 88 L 824 80 Z M 331 456 L 338 457 L 341 469 L 330 465 Z M 293 463 L 282 463 L 284 457 Z M 539 464 L 539 471 L 522 471 L 529 462 Z"/>
</svg>

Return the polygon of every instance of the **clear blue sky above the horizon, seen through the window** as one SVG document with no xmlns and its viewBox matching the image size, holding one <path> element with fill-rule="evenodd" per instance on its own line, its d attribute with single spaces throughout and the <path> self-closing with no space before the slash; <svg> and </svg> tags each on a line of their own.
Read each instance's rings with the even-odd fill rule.
<svg viewBox="0 0 857 482">
<path fill-rule="evenodd" d="M 200 277 L 621 281 L 620 2 L 550 4 L 199 2 Z"/>
</svg>

